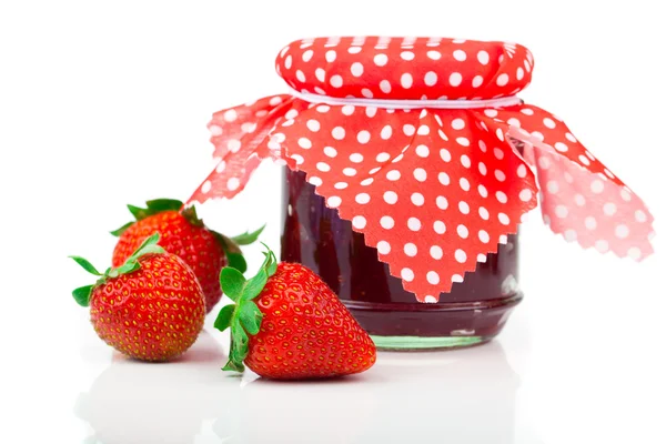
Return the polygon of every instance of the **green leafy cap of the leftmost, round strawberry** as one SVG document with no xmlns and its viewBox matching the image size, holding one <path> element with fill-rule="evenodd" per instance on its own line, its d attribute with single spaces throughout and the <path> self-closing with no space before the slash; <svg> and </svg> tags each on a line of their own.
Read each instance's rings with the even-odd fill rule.
<svg viewBox="0 0 666 444">
<path fill-rule="evenodd" d="M 103 273 L 100 273 L 88 260 L 81 256 L 70 256 L 79 265 L 83 268 L 90 274 L 99 276 L 97 282 L 93 285 L 85 285 L 75 289 L 72 292 L 72 296 L 74 296 L 74 301 L 81 306 L 90 305 L 90 295 L 95 286 L 105 283 L 109 279 L 118 278 L 121 274 L 130 274 L 141 269 L 141 264 L 139 263 L 139 259 L 143 258 L 147 254 L 162 254 L 164 253 L 164 249 L 158 245 L 158 241 L 160 240 L 160 233 L 154 233 L 150 238 L 147 238 L 141 245 L 129 256 L 125 262 L 118 268 L 108 268 Z"/>
</svg>

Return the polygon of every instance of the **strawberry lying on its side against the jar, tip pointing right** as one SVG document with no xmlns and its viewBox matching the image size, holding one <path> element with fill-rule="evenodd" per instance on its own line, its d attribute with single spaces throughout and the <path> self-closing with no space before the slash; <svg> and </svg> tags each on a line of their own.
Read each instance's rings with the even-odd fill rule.
<svg viewBox="0 0 666 444">
<path fill-rule="evenodd" d="M 376 349 L 335 293 L 312 270 L 278 260 L 271 250 L 245 281 L 235 269 L 220 273 L 225 305 L 215 329 L 231 329 L 229 362 L 278 380 L 342 376 L 370 369 Z"/>
</svg>

